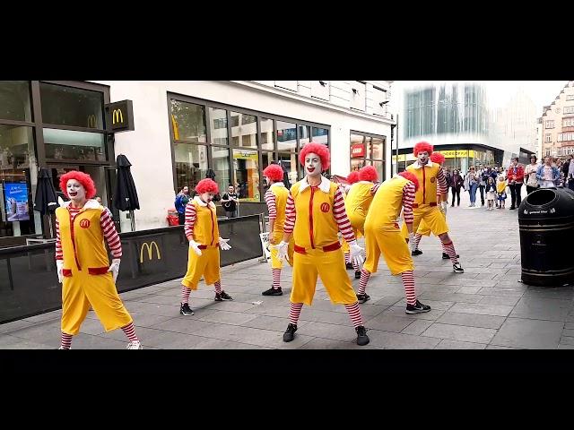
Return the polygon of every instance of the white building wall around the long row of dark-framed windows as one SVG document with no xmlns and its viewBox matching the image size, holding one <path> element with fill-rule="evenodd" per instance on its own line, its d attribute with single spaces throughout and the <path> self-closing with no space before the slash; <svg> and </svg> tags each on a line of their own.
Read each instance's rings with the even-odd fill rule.
<svg viewBox="0 0 574 430">
<path fill-rule="evenodd" d="M 96 81 L 94 81 L 96 82 Z M 168 92 L 245 107 L 277 116 L 331 126 L 331 172 L 350 171 L 350 133 L 356 130 L 387 136 L 386 172 L 390 175 L 390 114 L 377 116 L 349 108 L 350 82 L 329 82 L 330 101 L 310 98 L 311 83 L 300 81 L 295 90 L 276 88 L 274 81 L 97 81 L 110 87 L 111 101 L 133 100 L 135 131 L 116 134 L 116 155 L 132 163 L 140 211 L 135 211 L 137 230 L 167 225 L 173 207 L 174 184 L 170 147 Z M 380 83 L 380 82 L 379 82 Z M 390 83 L 387 82 L 387 87 Z M 291 86 L 285 83 L 285 86 Z M 383 84 L 378 85 L 380 87 Z M 372 90 L 372 84 L 371 84 Z M 365 107 L 366 108 L 366 107 Z M 122 229 L 129 227 L 122 212 Z"/>
</svg>

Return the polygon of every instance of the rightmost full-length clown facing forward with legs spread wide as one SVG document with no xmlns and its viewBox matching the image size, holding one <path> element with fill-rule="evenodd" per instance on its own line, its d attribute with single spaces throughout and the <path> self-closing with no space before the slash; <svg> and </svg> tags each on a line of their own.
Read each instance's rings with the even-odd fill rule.
<svg viewBox="0 0 574 430">
<path fill-rule="evenodd" d="M 420 184 L 413 203 L 413 230 L 417 231 L 419 224 L 422 219 L 424 219 L 425 224 L 431 228 L 432 234 L 439 236 L 443 249 L 448 254 L 450 262 L 452 262 L 452 270 L 455 273 L 464 273 L 465 270 L 457 260 L 455 245 L 453 245 L 452 240 L 450 240 L 448 236 L 447 220 L 441 213 L 441 211 L 446 213 L 448 206 L 447 180 L 442 173 L 440 165 L 433 163 L 431 159 L 429 159 L 432 155 L 432 150 L 431 143 L 418 142 L 415 144 L 413 154 L 417 160 L 406 168 L 407 171 L 417 177 Z M 439 185 L 438 191 L 437 183 Z M 438 193 L 440 194 L 440 202 L 437 202 Z M 441 210 L 439 210 L 438 204 L 440 204 Z M 403 236 L 405 239 L 409 237 L 405 224 L 403 224 Z M 411 253 L 413 253 L 416 249 L 415 241 L 407 240 L 409 240 Z"/>
</svg>

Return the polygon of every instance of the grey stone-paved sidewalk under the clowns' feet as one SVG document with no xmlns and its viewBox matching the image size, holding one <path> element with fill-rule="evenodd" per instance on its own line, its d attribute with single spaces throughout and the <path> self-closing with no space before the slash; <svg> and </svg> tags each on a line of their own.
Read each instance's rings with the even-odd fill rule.
<svg viewBox="0 0 574 430">
<path fill-rule="evenodd" d="M 291 268 L 283 270 L 283 297 L 261 296 L 272 281 L 268 264 L 250 261 L 224 268 L 222 286 L 234 301 L 214 302 L 213 288 L 202 283 L 191 294 L 196 314 L 189 317 L 178 313 L 178 280 L 121 296 L 146 349 L 574 348 L 574 288 L 520 283 L 517 211 L 469 209 L 467 195 L 459 208 L 448 207 L 451 237 L 465 273 L 453 273 L 451 263 L 441 259 L 436 237 L 423 237 L 423 254 L 413 257 L 416 288 L 432 310 L 408 315 L 401 279 L 390 276 L 381 259 L 370 279 L 371 299 L 361 305 L 370 329 L 366 347 L 354 344 L 344 306 L 332 305 L 320 284 L 313 306 L 303 307 L 295 340 L 283 342 Z M 352 283 L 358 288 L 358 280 Z M 56 311 L 0 325 L 0 348 L 57 348 L 59 318 Z M 126 348 L 126 343 L 122 331 L 105 333 L 91 312 L 72 348 Z"/>
</svg>

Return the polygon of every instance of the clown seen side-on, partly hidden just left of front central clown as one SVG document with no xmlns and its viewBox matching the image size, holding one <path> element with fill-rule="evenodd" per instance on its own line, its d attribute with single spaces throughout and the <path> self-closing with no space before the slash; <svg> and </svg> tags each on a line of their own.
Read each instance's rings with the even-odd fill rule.
<svg viewBox="0 0 574 430">
<path fill-rule="evenodd" d="M 269 211 L 269 243 L 277 245 L 283 239 L 283 226 L 285 223 L 285 208 L 287 206 L 287 196 L 289 190 L 283 184 L 283 168 L 277 164 L 270 164 L 263 171 L 263 176 L 267 178 L 269 189 L 265 193 L 265 203 Z M 277 248 L 271 247 L 271 273 L 273 285 L 266 289 L 263 296 L 283 296 L 281 289 L 281 270 L 283 269 L 283 259 L 277 258 Z M 293 241 L 289 243 L 287 252 L 287 262 L 293 265 Z"/>
</svg>

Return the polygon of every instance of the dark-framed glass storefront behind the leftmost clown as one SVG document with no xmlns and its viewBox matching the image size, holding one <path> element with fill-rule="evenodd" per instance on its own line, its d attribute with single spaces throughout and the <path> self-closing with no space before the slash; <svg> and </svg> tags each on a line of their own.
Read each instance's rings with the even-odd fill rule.
<svg viewBox="0 0 574 430">
<path fill-rule="evenodd" d="M 90 174 L 109 205 L 115 178 L 109 101 L 109 86 L 98 83 L 0 81 L 0 247 L 49 236 L 48 220 L 33 210 L 39 168 L 51 170 L 57 191 L 66 171 Z"/>
</svg>

